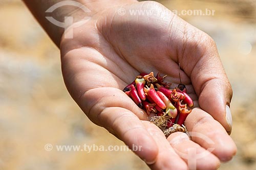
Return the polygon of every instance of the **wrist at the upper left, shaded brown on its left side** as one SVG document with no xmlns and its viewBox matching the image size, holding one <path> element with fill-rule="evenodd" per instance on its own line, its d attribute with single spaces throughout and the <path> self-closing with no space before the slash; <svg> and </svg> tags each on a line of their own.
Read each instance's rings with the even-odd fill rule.
<svg viewBox="0 0 256 170">
<path fill-rule="evenodd" d="M 70 27 L 73 23 L 84 19 L 84 17 L 92 17 L 101 11 L 115 6 L 137 2 L 136 0 L 23 1 L 58 47 L 65 29 Z M 58 6 L 56 6 L 56 4 Z"/>
</svg>

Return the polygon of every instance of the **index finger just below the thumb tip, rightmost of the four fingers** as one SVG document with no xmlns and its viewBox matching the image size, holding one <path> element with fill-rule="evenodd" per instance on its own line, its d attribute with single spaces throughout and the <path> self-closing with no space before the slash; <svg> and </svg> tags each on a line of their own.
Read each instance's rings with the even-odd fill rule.
<svg viewBox="0 0 256 170">
<path fill-rule="evenodd" d="M 236 155 L 236 144 L 221 124 L 205 111 L 194 108 L 187 116 L 185 126 L 193 141 L 212 150 L 221 161 L 228 161 Z"/>
</svg>

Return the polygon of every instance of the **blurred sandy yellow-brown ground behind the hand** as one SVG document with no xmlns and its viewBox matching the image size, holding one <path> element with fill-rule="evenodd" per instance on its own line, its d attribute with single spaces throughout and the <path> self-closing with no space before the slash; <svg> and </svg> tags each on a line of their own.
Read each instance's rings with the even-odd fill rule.
<svg viewBox="0 0 256 170">
<path fill-rule="evenodd" d="M 233 87 L 238 154 L 220 169 L 256 169 L 256 2 L 161 1 L 217 43 Z M 59 51 L 19 0 L 0 2 L 0 169 L 148 169 L 132 152 L 57 152 L 45 144 L 123 145 L 93 125 L 62 81 Z"/>
</svg>

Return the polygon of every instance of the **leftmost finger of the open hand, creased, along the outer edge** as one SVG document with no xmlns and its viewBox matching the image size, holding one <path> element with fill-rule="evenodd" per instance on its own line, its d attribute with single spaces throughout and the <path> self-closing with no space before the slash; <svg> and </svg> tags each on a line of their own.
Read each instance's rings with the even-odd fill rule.
<svg viewBox="0 0 256 170">
<path fill-rule="evenodd" d="M 134 152 L 145 162 L 155 161 L 158 154 L 156 142 L 139 119 L 148 116 L 123 91 L 106 87 L 91 89 L 80 100 L 80 107 L 92 122 L 106 128 L 131 149 L 135 145 L 142 147 Z"/>
</svg>

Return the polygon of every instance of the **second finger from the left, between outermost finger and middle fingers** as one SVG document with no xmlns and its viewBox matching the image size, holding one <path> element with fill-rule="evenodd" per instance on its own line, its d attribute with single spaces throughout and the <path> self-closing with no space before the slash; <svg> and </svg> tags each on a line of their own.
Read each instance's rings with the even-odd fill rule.
<svg viewBox="0 0 256 170">
<path fill-rule="evenodd" d="M 179 157 L 166 140 L 163 132 L 154 124 L 148 121 L 142 121 L 145 129 L 154 138 L 157 147 L 158 155 L 155 163 L 150 164 L 151 169 L 187 169 L 186 163 Z"/>
</svg>

